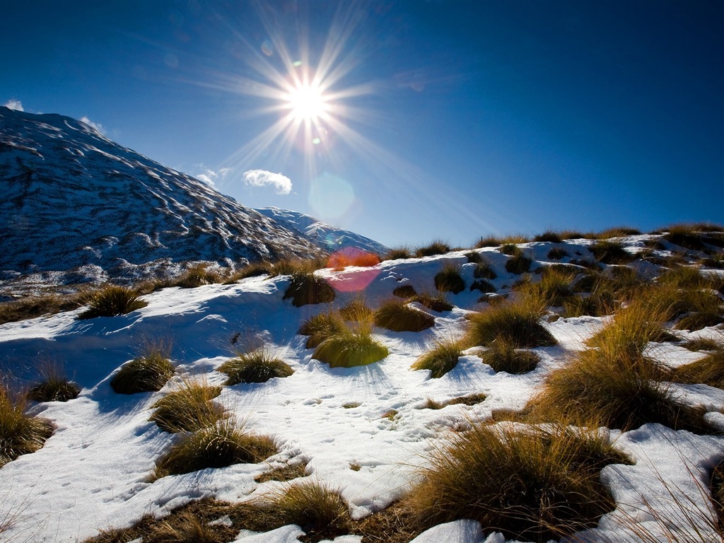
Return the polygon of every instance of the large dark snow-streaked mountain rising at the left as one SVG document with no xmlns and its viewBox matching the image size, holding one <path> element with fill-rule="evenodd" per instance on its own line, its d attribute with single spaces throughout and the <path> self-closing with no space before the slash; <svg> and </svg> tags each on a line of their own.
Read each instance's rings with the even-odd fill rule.
<svg viewBox="0 0 724 543">
<path fill-rule="evenodd" d="M 0 282 L 138 279 L 319 246 L 69 117 L 0 107 Z M 29 275 L 30 274 L 30 275 Z"/>
</svg>

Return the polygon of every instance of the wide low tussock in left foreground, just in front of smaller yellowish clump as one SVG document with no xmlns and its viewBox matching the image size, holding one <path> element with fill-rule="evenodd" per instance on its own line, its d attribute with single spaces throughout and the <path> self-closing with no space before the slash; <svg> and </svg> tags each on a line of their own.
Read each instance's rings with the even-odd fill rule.
<svg viewBox="0 0 724 543">
<path fill-rule="evenodd" d="M 277 454 L 270 437 L 244 432 L 232 418 L 185 435 L 156 462 L 154 479 L 232 464 L 259 463 Z"/>
</svg>

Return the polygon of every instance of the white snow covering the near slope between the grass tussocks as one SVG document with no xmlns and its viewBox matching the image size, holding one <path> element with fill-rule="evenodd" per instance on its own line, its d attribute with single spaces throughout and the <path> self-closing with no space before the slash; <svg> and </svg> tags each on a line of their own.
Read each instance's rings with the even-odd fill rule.
<svg viewBox="0 0 724 543">
<path fill-rule="evenodd" d="M 481 253 L 494 263 L 498 274 L 494 284 L 511 285 L 517 276 L 505 271 L 505 257 L 492 249 Z M 365 280 L 363 295 L 374 306 L 408 282 L 418 292 L 433 292 L 434 273 L 449 262 L 463 266 L 469 285 L 471 266 L 464 264 L 462 253 L 450 253 L 385 261 Z M 319 271 L 332 285 L 364 273 L 369 274 L 369 269 Z M 306 462 L 309 476 L 339 489 L 352 517 L 363 518 L 402 497 L 416 481 L 418 469 L 426 466 L 429 452 L 443 445 L 451 431 L 484 420 L 494 409 L 522 408 L 545 376 L 584 348 L 586 338 L 605 321 L 581 317 L 547 324 L 560 345 L 536 349 L 542 362 L 529 374 L 496 374 L 481 363 L 474 349 L 440 379 L 431 379 L 429 371 L 412 371 L 418 355 L 436 339 L 459 335 L 466 313 L 479 307 L 479 292 L 466 290 L 448 296 L 455 304 L 452 311 L 432 313 L 436 318 L 432 329 L 377 330 L 376 339 L 390 350 L 383 361 L 332 369 L 313 359 L 312 350 L 304 348 L 306 338 L 297 334 L 302 321 L 329 304 L 295 308 L 290 300 L 282 300 L 288 284 L 288 277 L 263 276 L 234 285 L 173 287 L 146 295 L 148 306 L 125 316 L 79 321 L 79 309 L 1 325 L 0 367 L 20 383 L 35 379 L 35 364 L 51 358 L 64 363 L 83 387 L 80 396 L 67 403 L 33 405 L 33 413 L 49 418 L 56 430 L 41 450 L 1 468 L 0 519 L 12 517 L 13 525 L 3 535 L 12 541 L 83 541 L 99 529 L 130 526 L 145 514 L 161 516 L 199 497 L 247 500 L 278 487 L 274 481 L 257 484 L 254 477 L 270 465 L 287 462 Z M 356 295 L 340 290 L 334 305 Z M 704 330 L 699 335 L 716 333 Z M 279 454 L 258 465 L 238 464 L 149 482 L 154 461 L 177 439 L 148 421 L 149 408 L 180 376 L 161 392 L 130 396 L 115 394 L 109 380 L 122 363 L 138 355 L 144 342 L 162 338 L 172 340 L 179 375 L 222 384 L 224 376 L 215 369 L 235 354 L 235 334 L 242 340 L 263 337 L 267 347 L 295 371 L 285 379 L 224 387 L 215 400 L 249 431 L 273 436 Z M 676 366 L 703 354 L 656 344 L 649 355 Z M 724 408 L 723 391 L 705 385 L 672 386 L 686 403 L 704 405 L 712 411 L 707 416 L 724 426 L 719 413 Z M 484 392 L 487 399 L 473 406 L 422 408 L 429 398 L 445 401 L 473 392 Z M 358 406 L 345 407 L 350 403 Z M 397 414 L 385 418 L 392 409 Z M 722 456 L 722 437 L 674 432 L 657 424 L 612 436 L 636 465 L 607 466 L 602 471 L 617 508 L 602 518 L 599 527 L 582 534 L 584 540 L 633 541 L 626 529 L 630 518 L 660 533 L 660 520 L 647 511 L 666 510 L 671 522 L 681 521 L 681 511 L 669 511 L 671 492 L 687 507 L 708 511 L 703 478 Z M 704 529 L 711 514 L 700 522 Z M 300 534 L 297 526 L 285 526 L 267 534 L 243 532 L 237 542 L 286 543 Z M 343 536 L 334 541 L 351 543 L 359 538 Z M 505 539 L 484 534 L 472 521 L 436 526 L 415 539 L 416 543 L 439 541 L 502 543 Z"/>
</svg>

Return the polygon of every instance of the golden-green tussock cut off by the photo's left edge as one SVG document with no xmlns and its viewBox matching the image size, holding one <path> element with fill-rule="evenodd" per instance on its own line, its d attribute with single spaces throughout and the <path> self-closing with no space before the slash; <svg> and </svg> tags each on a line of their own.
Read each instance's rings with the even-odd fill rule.
<svg viewBox="0 0 724 543">
<path fill-rule="evenodd" d="M 40 449 L 53 434 L 50 421 L 25 414 L 25 403 L 24 395 L 12 395 L 0 384 L 0 468 Z"/>
</svg>

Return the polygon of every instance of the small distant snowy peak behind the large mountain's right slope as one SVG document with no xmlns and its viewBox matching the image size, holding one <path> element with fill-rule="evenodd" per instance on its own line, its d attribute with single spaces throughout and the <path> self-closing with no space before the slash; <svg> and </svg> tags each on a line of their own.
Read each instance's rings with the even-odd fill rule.
<svg viewBox="0 0 724 543">
<path fill-rule="evenodd" d="M 278 207 L 266 207 L 256 209 L 256 211 L 268 216 L 270 219 L 274 219 L 287 228 L 301 232 L 326 251 L 355 247 L 382 255 L 388 250 L 382 243 L 371 240 L 369 237 L 330 226 L 316 219 L 316 217 L 298 211 L 279 209 Z"/>
</svg>

